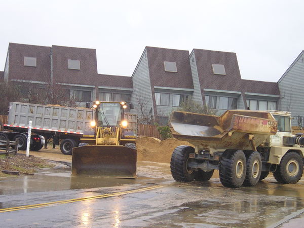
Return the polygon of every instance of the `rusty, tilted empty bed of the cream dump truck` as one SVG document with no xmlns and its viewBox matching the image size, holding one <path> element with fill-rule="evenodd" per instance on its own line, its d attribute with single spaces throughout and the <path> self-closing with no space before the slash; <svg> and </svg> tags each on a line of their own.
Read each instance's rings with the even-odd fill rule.
<svg viewBox="0 0 304 228">
<path fill-rule="evenodd" d="M 267 111 L 227 110 L 220 117 L 174 111 L 170 125 L 173 137 L 206 149 L 251 149 L 249 134 L 258 146 L 277 132 L 277 122 Z"/>
</svg>

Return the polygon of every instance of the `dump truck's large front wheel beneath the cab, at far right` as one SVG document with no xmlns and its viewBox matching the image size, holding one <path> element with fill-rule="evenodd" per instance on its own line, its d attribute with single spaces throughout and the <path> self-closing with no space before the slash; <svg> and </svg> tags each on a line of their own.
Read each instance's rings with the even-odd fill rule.
<svg viewBox="0 0 304 228">
<path fill-rule="evenodd" d="M 279 183 L 296 183 L 303 174 L 303 161 L 296 152 L 290 152 L 283 156 L 280 165 L 274 172 L 274 177 Z"/>
</svg>

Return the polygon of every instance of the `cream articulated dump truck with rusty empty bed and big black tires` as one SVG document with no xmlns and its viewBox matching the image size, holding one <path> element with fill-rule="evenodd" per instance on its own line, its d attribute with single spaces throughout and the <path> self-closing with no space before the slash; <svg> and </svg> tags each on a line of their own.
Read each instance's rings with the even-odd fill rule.
<svg viewBox="0 0 304 228">
<path fill-rule="evenodd" d="M 304 136 L 291 134 L 290 112 L 227 110 L 222 116 L 173 112 L 173 137 L 192 143 L 171 157 L 176 181 L 208 181 L 219 170 L 226 187 L 254 186 L 270 172 L 280 183 L 303 173 Z"/>
</svg>

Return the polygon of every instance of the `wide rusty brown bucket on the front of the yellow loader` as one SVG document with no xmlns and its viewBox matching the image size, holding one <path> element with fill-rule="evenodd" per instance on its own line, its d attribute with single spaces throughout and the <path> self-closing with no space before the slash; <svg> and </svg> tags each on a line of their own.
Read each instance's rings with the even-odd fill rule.
<svg viewBox="0 0 304 228">
<path fill-rule="evenodd" d="M 72 175 L 136 178 L 136 149 L 122 145 L 85 145 L 73 148 Z"/>
</svg>

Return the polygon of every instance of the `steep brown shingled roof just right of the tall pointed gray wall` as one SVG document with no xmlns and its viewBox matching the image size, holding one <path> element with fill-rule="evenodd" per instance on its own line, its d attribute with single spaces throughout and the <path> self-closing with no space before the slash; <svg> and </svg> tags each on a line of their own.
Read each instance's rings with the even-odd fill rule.
<svg viewBox="0 0 304 228">
<path fill-rule="evenodd" d="M 193 89 L 189 51 L 146 47 L 151 86 Z M 164 61 L 176 62 L 177 72 L 167 72 Z"/>
</svg>

